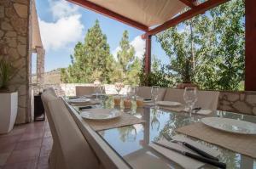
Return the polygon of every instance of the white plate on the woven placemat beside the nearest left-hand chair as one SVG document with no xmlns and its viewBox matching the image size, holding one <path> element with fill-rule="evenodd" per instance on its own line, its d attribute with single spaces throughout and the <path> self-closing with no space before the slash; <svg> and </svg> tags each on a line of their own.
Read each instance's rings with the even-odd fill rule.
<svg viewBox="0 0 256 169">
<path fill-rule="evenodd" d="M 119 117 L 122 113 L 119 110 L 93 109 L 83 111 L 80 115 L 85 119 L 102 121 Z"/>
</svg>

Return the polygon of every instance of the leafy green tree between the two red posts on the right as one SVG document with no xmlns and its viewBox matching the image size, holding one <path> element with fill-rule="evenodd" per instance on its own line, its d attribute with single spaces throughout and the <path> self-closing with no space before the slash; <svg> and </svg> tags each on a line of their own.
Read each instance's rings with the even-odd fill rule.
<svg viewBox="0 0 256 169">
<path fill-rule="evenodd" d="M 157 35 L 177 82 L 238 90 L 244 79 L 244 1 L 233 0 Z M 181 27 L 184 31 L 179 31 Z"/>
</svg>

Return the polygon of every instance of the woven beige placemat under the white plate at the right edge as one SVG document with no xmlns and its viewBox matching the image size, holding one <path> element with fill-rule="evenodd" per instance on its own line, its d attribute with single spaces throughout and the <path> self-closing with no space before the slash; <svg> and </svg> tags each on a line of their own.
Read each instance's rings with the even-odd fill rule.
<svg viewBox="0 0 256 169">
<path fill-rule="evenodd" d="M 217 144 L 243 155 L 256 158 L 256 135 L 236 134 L 207 127 L 202 122 L 176 129 L 177 132 Z"/>
</svg>

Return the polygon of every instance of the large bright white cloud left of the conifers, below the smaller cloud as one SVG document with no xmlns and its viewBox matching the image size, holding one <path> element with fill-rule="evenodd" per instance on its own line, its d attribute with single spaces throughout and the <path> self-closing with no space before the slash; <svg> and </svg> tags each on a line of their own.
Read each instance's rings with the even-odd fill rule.
<svg viewBox="0 0 256 169">
<path fill-rule="evenodd" d="M 74 14 L 55 22 L 46 22 L 39 19 L 44 48 L 46 50 L 56 50 L 67 47 L 71 42 L 78 42 L 84 30 L 80 17 L 81 15 Z"/>
</svg>

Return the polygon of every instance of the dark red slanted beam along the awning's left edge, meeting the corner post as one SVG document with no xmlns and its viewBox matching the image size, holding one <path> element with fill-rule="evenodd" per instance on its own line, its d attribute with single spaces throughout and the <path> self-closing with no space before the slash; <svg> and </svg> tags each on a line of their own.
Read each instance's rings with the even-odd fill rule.
<svg viewBox="0 0 256 169">
<path fill-rule="evenodd" d="M 87 0 L 67 0 L 67 1 L 70 3 L 75 3 L 81 7 L 88 8 L 96 13 L 108 16 L 109 18 L 112 18 L 113 20 L 118 20 L 119 22 L 122 22 L 126 25 L 131 25 L 132 27 L 135 27 L 139 30 L 148 31 L 147 25 L 143 25 L 135 20 L 126 18 L 125 16 L 123 16 L 121 14 L 117 14 L 117 13 L 109 10 L 108 8 L 103 8 L 95 3 L 91 3 L 90 1 L 87 1 Z"/>
</svg>

